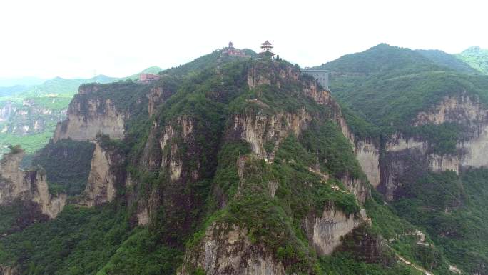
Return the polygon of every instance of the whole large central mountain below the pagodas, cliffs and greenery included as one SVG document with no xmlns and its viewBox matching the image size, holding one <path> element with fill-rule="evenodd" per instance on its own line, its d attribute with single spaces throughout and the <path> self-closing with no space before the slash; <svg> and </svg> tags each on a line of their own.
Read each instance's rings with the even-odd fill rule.
<svg viewBox="0 0 488 275">
<path fill-rule="evenodd" d="M 86 139 L 95 144 L 86 189 L 56 219 L 3 236 L 3 270 L 448 272 L 442 252 L 416 244 L 415 227 L 371 190 L 340 106 L 288 62 L 82 85 L 53 142 Z M 56 146 L 39 159 L 76 156 Z M 61 181 L 52 166 L 47 181 Z"/>
</svg>

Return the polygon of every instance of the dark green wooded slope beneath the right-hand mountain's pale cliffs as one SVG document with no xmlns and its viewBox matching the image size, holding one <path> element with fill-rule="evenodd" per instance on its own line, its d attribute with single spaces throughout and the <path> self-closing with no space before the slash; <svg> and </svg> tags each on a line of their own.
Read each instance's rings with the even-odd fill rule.
<svg viewBox="0 0 488 275">
<path fill-rule="evenodd" d="M 407 186 L 392 206 L 425 228 L 447 259 L 465 271 L 486 273 L 488 258 L 488 170 L 429 173 Z"/>
</svg>

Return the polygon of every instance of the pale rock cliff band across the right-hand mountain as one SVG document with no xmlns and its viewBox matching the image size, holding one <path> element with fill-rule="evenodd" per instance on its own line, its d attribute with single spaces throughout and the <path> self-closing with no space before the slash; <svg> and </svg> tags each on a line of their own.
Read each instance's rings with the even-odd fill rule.
<svg viewBox="0 0 488 275">
<path fill-rule="evenodd" d="M 466 94 L 445 98 L 427 111 L 417 114 L 413 126 L 455 123 L 462 126 L 463 138 L 457 143 L 455 154 L 435 154 L 430 144 L 418 137 L 395 134 L 385 145 L 380 189 L 387 199 L 411 180 L 412 171 L 447 171 L 459 173 L 463 166 L 488 166 L 488 111 L 477 99 Z"/>
</svg>

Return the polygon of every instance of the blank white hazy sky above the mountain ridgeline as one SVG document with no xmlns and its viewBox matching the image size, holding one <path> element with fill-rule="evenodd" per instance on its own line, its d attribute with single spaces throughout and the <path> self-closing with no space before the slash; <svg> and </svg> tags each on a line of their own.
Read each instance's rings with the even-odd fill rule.
<svg viewBox="0 0 488 275">
<path fill-rule="evenodd" d="M 488 49 L 484 1 L 0 0 L 0 78 L 127 76 L 233 41 L 316 66 L 385 42 Z"/>
</svg>

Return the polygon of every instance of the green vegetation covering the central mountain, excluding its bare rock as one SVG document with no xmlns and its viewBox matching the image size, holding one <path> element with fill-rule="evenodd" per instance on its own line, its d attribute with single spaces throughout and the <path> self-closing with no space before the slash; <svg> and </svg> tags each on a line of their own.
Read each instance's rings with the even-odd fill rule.
<svg viewBox="0 0 488 275">
<path fill-rule="evenodd" d="M 251 67 L 260 73 L 271 72 L 270 84 L 249 89 L 247 72 Z M 352 144 L 331 121 L 333 110 L 300 94 L 311 79 L 278 79 L 277 83 L 275 77 L 280 76 L 281 69 L 298 71 L 285 61 L 238 61 L 193 71 L 181 78 L 168 76 L 168 85 L 173 85 L 175 93 L 152 119 L 147 114 L 150 86 L 121 81 L 102 85 L 98 92 L 77 95 L 82 105 L 92 97 L 111 99 L 117 109 L 130 112 L 126 139 L 100 139 L 104 148 L 121 149 L 126 154 L 128 160 L 123 165 L 127 165 L 133 184 L 118 186 L 118 197 L 111 204 L 93 209 L 68 205 L 54 220 L 1 238 L 0 262 L 17 266 L 23 274 L 174 274 L 185 249 L 198 244 L 207 226 L 216 222 L 248 229 L 253 244 L 297 274 L 415 274 L 410 267 L 395 262 L 369 262 L 355 258 L 357 254 L 350 259 L 349 248 L 331 257 L 317 258 L 303 221 L 314 219 L 324 209 L 358 215 L 360 205 L 340 179 L 350 176 L 365 180 L 365 175 L 355 160 Z M 310 126 L 300 136 L 290 134 L 281 141 L 273 164 L 251 156 L 249 144 L 229 134 L 235 115 L 265 116 L 302 110 L 312 117 Z M 369 131 L 369 124 L 355 114 L 350 117 L 357 119 L 357 129 Z M 181 136 L 178 119 L 193 125 L 186 140 Z M 151 140 L 151 129 L 163 131 L 166 126 L 174 126 L 180 133 L 168 141 L 176 149 L 166 145 L 161 150 L 159 140 Z M 88 146 L 72 142 L 59 146 L 68 151 Z M 40 157 L 44 163 L 49 161 L 50 148 L 54 145 L 41 154 L 46 156 Z M 268 144 L 266 148 L 271 151 L 274 146 Z M 156 168 L 148 167 L 151 164 L 141 161 L 153 154 L 155 159 L 161 154 L 165 160 L 181 160 L 181 179 L 172 181 L 166 166 L 156 163 Z M 84 165 L 83 156 L 72 157 Z M 241 157 L 242 179 L 237 164 Z M 79 168 L 72 172 L 81 178 L 84 170 Z M 197 171 L 196 176 L 193 171 Z M 330 178 L 325 180 L 327 176 L 322 174 Z M 66 186 L 72 184 L 63 174 L 55 176 L 59 181 L 66 180 Z M 270 184 L 276 184 L 274 196 Z M 126 204 L 153 201 L 153 194 L 157 202 L 151 205 L 156 208 L 151 213 L 151 224 L 138 228 L 136 211 L 140 209 L 136 209 L 137 204 Z M 372 204 L 370 209 L 375 209 L 372 215 L 376 217 L 372 228 L 359 231 L 353 238 L 368 234 L 380 238 L 377 235 L 407 231 L 409 226 L 403 221 L 395 228 L 392 221 L 400 219 L 383 204 Z M 417 250 L 411 246 L 412 239 L 408 238 L 392 245 L 395 251 L 412 254 L 412 261 L 432 263 L 422 258 L 430 254 L 416 256 Z M 196 270 L 201 274 L 200 269 Z"/>
</svg>

